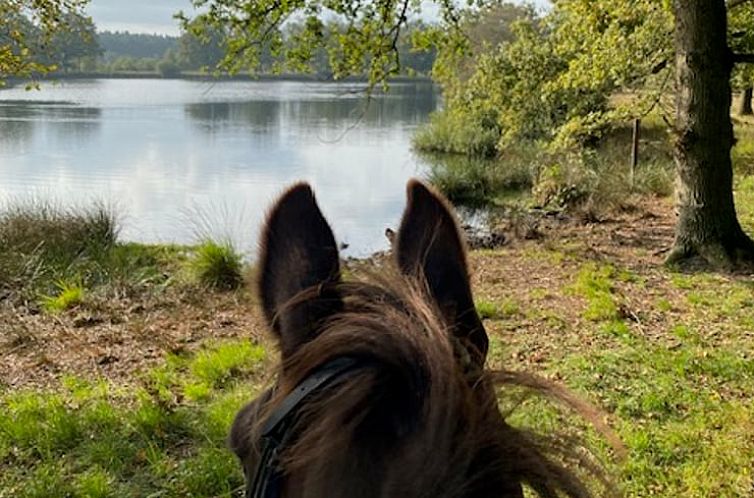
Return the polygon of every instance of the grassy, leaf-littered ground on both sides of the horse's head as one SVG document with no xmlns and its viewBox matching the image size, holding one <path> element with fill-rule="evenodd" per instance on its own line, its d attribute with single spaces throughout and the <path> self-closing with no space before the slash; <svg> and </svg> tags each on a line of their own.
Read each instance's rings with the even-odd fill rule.
<svg viewBox="0 0 754 498">
<path fill-rule="evenodd" d="M 754 228 L 752 185 L 739 186 Z M 599 223 L 470 255 L 490 368 L 599 406 L 626 448 L 626 496 L 754 492 L 754 283 L 662 266 L 675 218 L 644 199 Z M 238 496 L 235 411 L 274 371 L 251 291 L 175 290 L 0 320 L 0 497 Z M 537 400 L 516 423 L 571 420 Z"/>
</svg>

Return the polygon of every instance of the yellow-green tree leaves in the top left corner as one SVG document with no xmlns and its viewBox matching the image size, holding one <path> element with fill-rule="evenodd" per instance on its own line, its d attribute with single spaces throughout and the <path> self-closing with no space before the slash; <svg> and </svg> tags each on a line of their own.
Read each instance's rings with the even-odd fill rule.
<svg viewBox="0 0 754 498">
<path fill-rule="evenodd" d="M 66 30 L 66 14 L 80 13 L 87 1 L 0 0 L 0 84 L 10 77 L 31 78 L 53 70 L 53 64 L 35 58 L 39 53 L 33 43 L 47 43 Z M 35 40 L 29 38 L 32 34 Z"/>
</svg>

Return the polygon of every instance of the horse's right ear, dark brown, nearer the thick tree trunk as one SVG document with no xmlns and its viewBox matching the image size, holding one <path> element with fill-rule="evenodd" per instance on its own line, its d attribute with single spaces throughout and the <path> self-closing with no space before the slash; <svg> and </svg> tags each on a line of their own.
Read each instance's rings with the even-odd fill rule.
<svg viewBox="0 0 754 498">
<path fill-rule="evenodd" d="M 481 365 L 489 341 L 474 306 L 466 249 L 450 204 L 417 180 L 408 183 L 407 195 L 394 242 L 398 268 L 424 279 L 453 334 Z"/>
</svg>

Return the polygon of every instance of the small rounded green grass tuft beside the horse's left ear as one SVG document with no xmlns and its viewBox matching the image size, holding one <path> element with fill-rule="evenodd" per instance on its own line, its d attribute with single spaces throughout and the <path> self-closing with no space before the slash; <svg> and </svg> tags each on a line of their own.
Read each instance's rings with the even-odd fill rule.
<svg viewBox="0 0 754 498">
<path fill-rule="evenodd" d="M 189 268 L 194 278 L 208 287 L 233 290 L 243 282 L 241 255 L 229 242 L 202 242 L 189 260 Z"/>
</svg>

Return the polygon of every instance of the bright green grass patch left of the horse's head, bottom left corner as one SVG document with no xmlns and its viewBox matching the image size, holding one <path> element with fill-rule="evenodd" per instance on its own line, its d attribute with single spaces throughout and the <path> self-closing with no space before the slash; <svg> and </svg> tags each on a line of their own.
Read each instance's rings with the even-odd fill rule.
<svg viewBox="0 0 754 498">
<path fill-rule="evenodd" d="M 69 377 L 0 395 L 0 496 L 233 496 L 243 477 L 225 438 L 264 360 L 225 342 L 133 386 Z M 204 395 L 186 396 L 197 385 Z"/>
</svg>

